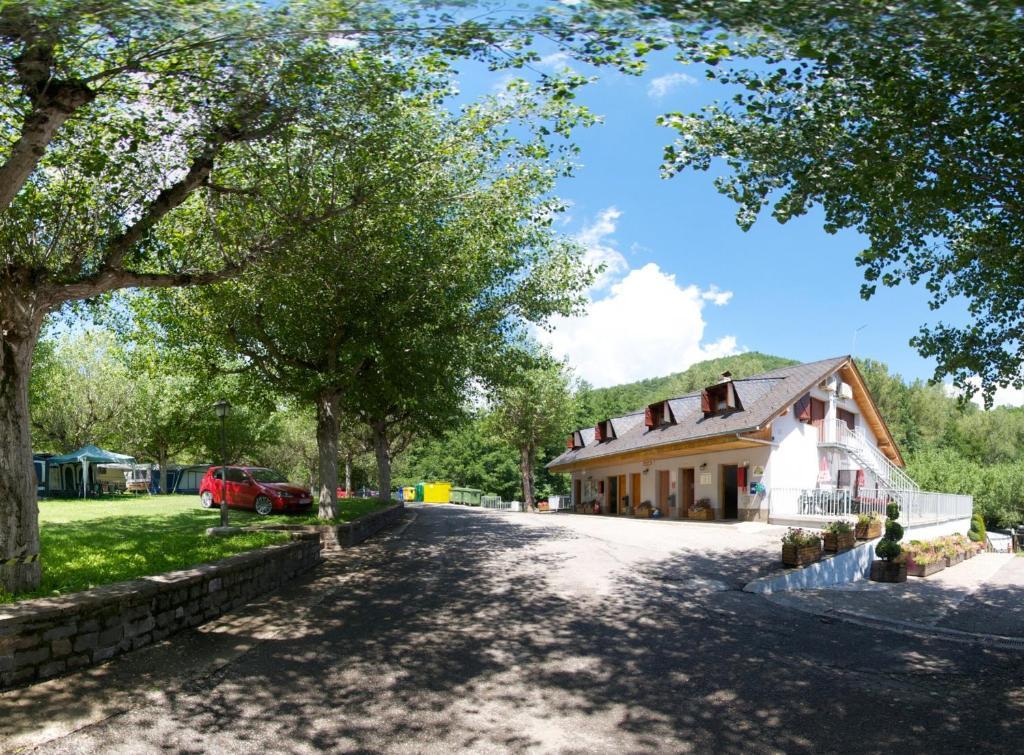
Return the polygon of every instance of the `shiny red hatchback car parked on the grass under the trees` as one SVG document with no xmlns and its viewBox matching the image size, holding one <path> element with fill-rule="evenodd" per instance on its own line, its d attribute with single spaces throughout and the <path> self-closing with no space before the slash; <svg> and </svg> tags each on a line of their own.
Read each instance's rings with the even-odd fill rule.
<svg viewBox="0 0 1024 755">
<path fill-rule="evenodd" d="M 312 506 L 308 488 L 292 485 L 266 467 L 227 467 L 227 507 L 251 509 L 261 516 L 278 512 L 303 513 Z M 203 508 L 219 506 L 223 483 L 220 467 L 210 467 L 199 486 Z"/>
</svg>

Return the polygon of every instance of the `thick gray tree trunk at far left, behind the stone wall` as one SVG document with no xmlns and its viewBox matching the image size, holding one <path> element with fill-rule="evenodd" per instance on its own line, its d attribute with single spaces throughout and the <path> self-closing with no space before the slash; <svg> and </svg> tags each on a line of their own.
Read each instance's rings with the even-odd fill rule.
<svg viewBox="0 0 1024 755">
<path fill-rule="evenodd" d="M 37 589 L 41 575 L 29 421 L 29 375 L 40 324 L 22 304 L 0 291 L 0 589 L 14 593 Z"/>
</svg>

